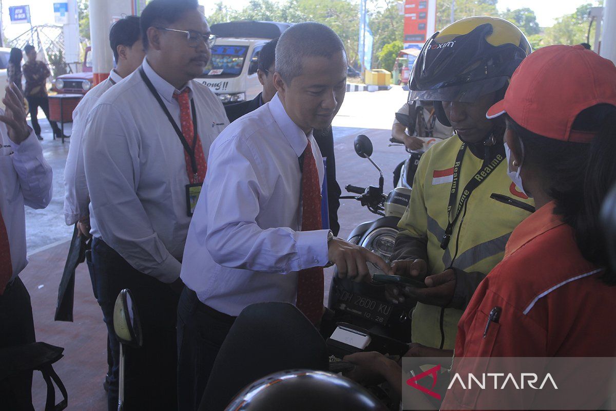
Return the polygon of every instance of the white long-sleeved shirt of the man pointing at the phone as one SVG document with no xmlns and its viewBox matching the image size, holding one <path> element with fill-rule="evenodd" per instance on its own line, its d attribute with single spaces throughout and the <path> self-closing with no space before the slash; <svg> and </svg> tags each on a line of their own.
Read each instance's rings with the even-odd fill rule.
<svg viewBox="0 0 616 411">
<path fill-rule="evenodd" d="M 321 153 L 308 138 L 323 182 Z M 328 230 L 301 231 L 306 145 L 278 94 L 212 145 L 180 275 L 202 303 L 229 315 L 253 303 L 294 303 L 297 271 L 327 264 Z"/>
</svg>

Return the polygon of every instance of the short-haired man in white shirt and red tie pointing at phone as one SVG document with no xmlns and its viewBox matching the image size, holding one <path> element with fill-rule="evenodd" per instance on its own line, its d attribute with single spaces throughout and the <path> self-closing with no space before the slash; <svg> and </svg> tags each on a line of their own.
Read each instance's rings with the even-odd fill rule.
<svg viewBox="0 0 616 411">
<path fill-rule="evenodd" d="M 323 161 L 313 129 L 328 128 L 346 91 L 344 46 L 330 28 L 300 23 L 280 36 L 274 98 L 234 121 L 214 142 L 190 224 L 178 306 L 179 409 L 198 407 L 235 317 L 253 303 L 295 303 L 323 315 L 323 266 L 370 279 L 389 266 L 322 229 Z M 241 370 L 238 370 L 240 372 Z"/>
</svg>

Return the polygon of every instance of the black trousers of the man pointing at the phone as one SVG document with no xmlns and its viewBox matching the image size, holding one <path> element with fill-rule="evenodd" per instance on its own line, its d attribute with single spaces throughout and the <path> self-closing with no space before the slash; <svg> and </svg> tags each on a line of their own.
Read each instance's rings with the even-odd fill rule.
<svg viewBox="0 0 616 411">
<path fill-rule="evenodd" d="M 235 317 L 201 303 L 184 287 L 177 306 L 177 399 L 179 411 L 199 408 L 209 373 Z M 240 372 L 240 371 L 238 371 Z"/>
</svg>

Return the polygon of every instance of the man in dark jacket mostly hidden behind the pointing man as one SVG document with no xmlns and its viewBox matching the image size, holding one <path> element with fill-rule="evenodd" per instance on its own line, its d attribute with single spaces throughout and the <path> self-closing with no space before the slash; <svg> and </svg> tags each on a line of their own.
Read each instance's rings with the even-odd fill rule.
<svg viewBox="0 0 616 411">
<path fill-rule="evenodd" d="M 237 104 L 225 105 L 225 112 L 230 122 L 233 122 L 243 115 L 253 112 L 265 103 L 272 100 L 276 94 L 274 86 L 274 71 L 276 58 L 276 44 L 278 39 L 273 39 L 263 46 L 259 53 L 259 62 L 257 68 L 257 76 L 259 83 L 263 86 L 263 91 L 259 93 L 253 100 Z M 314 130 L 312 132 L 318 149 L 321 155 L 325 158 L 326 179 L 327 179 L 327 202 L 328 214 L 330 217 L 330 229 L 334 235 L 338 235 L 340 224 L 338 222 L 338 208 L 340 208 L 340 185 L 336 181 L 336 157 L 334 155 L 334 133 L 331 126 L 323 130 Z"/>
</svg>

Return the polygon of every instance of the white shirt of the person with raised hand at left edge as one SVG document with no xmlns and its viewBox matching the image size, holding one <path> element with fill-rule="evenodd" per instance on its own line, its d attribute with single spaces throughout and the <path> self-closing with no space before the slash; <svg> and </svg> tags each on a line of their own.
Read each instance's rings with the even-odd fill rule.
<svg viewBox="0 0 616 411">
<path fill-rule="evenodd" d="M 4 110 L 0 114 L 4 115 Z M 0 212 L 9 237 L 13 280 L 28 264 L 23 206 L 45 208 L 49 204 L 52 170 L 34 131 L 21 144 L 15 144 L 9 139 L 6 125 L 0 123 L 0 141 Z"/>
</svg>

